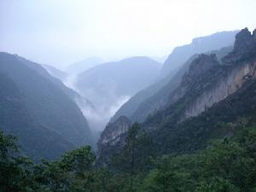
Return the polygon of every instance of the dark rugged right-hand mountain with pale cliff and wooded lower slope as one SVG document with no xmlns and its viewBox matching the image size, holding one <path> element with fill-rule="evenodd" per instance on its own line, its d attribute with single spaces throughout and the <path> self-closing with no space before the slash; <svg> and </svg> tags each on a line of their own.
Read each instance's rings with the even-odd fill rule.
<svg viewBox="0 0 256 192">
<path fill-rule="evenodd" d="M 255 37 L 256 30 L 251 34 L 245 28 L 237 33 L 234 48 L 222 61 L 214 53 L 191 61 L 164 108 L 142 123 L 159 154 L 190 153 L 205 148 L 212 138 L 232 135 L 233 125 L 256 123 Z M 114 137 L 125 137 L 125 133 Z M 122 142 L 102 151 L 111 154 L 120 146 Z"/>
</svg>

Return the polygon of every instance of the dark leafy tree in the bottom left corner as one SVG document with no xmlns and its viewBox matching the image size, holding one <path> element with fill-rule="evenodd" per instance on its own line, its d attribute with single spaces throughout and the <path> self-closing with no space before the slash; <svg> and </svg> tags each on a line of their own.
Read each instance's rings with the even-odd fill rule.
<svg viewBox="0 0 256 192">
<path fill-rule="evenodd" d="M 20 156 L 16 137 L 0 131 L 0 191 L 32 191 L 32 160 Z"/>
</svg>

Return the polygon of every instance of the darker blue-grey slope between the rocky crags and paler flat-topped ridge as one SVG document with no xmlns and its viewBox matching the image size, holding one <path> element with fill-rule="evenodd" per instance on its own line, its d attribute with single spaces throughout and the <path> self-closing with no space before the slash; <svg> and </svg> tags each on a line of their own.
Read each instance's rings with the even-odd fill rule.
<svg viewBox="0 0 256 192">
<path fill-rule="evenodd" d="M 220 61 L 221 58 L 231 50 L 232 46 L 219 50 L 212 50 L 206 54 L 215 53 L 218 61 Z M 163 108 L 168 102 L 168 96 L 181 82 L 183 74 L 188 71 L 191 62 L 197 56 L 197 54 L 192 55 L 189 60 L 177 70 L 177 73 L 170 73 L 166 78 L 161 79 L 157 83 L 152 84 L 148 88 L 138 92 L 137 95 L 131 97 L 131 99 L 128 102 L 125 102 L 125 104 L 114 114 L 111 121 L 118 119 L 121 115 L 125 115 L 133 122 L 143 122 L 148 118 L 148 115 L 156 113 L 160 108 Z"/>
</svg>

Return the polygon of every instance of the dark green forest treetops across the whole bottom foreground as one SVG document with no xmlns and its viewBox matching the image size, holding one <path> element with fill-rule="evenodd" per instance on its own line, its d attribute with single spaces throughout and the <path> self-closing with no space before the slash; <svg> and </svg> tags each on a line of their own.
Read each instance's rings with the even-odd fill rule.
<svg viewBox="0 0 256 192">
<path fill-rule="evenodd" d="M 248 126 L 246 119 L 240 122 L 232 125 L 232 137 L 212 140 L 203 150 L 161 156 L 135 123 L 125 147 L 105 164 L 97 162 L 90 146 L 35 164 L 19 153 L 15 137 L 1 132 L 0 191 L 256 191 L 256 126 Z"/>
</svg>

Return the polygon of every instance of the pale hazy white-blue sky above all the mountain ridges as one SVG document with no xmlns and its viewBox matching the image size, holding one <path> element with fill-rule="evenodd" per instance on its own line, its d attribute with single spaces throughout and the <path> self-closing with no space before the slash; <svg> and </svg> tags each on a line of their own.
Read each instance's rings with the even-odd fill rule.
<svg viewBox="0 0 256 192">
<path fill-rule="evenodd" d="M 164 56 L 192 38 L 256 27 L 255 0 L 0 0 L 0 51 L 57 67 Z"/>
</svg>

